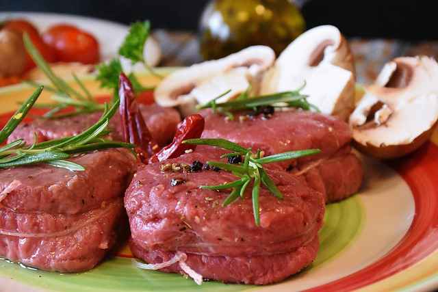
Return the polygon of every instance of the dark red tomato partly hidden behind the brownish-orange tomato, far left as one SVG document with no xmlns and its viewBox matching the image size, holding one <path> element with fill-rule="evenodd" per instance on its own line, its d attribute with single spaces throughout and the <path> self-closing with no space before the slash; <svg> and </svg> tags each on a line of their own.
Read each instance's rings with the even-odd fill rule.
<svg viewBox="0 0 438 292">
<path fill-rule="evenodd" d="M 29 23 L 28 21 L 25 21 L 23 19 L 14 19 L 12 21 L 6 22 L 3 28 L 18 31 L 22 34 L 24 32 L 27 32 L 30 40 L 32 41 L 32 44 L 34 44 L 36 49 L 38 49 L 38 51 L 40 52 L 42 57 L 44 57 L 44 59 L 47 62 L 52 63 L 52 62 L 57 61 L 55 51 L 53 51 L 53 49 L 51 49 L 51 47 L 47 46 L 47 44 L 45 44 L 42 41 L 42 38 L 41 38 L 40 34 L 38 33 L 38 30 L 36 29 L 36 27 L 34 27 L 34 25 Z M 27 62 L 26 62 L 27 65 L 26 65 L 25 70 L 29 70 L 29 69 L 34 68 L 36 66 L 36 64 L 34 63 L 34 61 L 32 60 L 32 58 L 30 57 L 29 54 L 26 54 L 26 59 L 27 59 Z"/>
</svg>

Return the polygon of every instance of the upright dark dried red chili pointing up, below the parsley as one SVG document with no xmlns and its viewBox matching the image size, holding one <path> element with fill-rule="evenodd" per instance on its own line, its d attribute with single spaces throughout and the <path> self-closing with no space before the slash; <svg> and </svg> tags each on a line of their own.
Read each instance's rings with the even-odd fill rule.
<svg viewBox="0 0 438 292">
<path fill-rule="evenodd" d="M 122 118 L 123 139 L 135 144 L 136 152 L 143 162 L 158 149 L 151 133 L 144 122 L 142 113 L 133 92 L 131 81 L 122 72 L 119 77 L 118 96 L 120 96 L 120 116 Z"/>
</svg>

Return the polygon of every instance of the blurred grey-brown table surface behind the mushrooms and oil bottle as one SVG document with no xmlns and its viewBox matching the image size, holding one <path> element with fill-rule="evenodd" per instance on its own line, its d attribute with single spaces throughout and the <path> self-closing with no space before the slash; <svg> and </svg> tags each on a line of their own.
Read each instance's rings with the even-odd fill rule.
<svg viewBox="0 0 438 292">
<path fill-rule="evenodd" d="M 202 62 L 198 38 L 185 32 L 157 30 L 155 38 L 162 46 L 163 59 L 160 66 L 189 66 Z M 438 41 L 403 42 L 383 39 L 351 39 L 350 47 L 355 55 L 357 81 L 372 83 L 383 64 L 394 57 L 404 55 L 430 55 L 438 57 Z"/>
</svg>

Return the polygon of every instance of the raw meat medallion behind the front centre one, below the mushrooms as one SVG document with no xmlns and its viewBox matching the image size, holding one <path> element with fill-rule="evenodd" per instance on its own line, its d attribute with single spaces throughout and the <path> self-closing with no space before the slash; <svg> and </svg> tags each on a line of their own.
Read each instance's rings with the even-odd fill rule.
<svg viewBox="0 0 438 292">
<path fill-rule="evenodd" d="M 309 148 L 322 150 L 319 155 L 303 157 L 292 164 L 291 161 L 279 164 L 292 172 L 309 168 L 309 174 L 299 173 L 326 194 L 327 202 L 351 196 L 361 186 L 363 169 L 349 146 L 350 128 L 338 118 L 299 110 L 276 111 L 269 117 L 237 114 L 234 120 L 210 110 L 203 111 L 203 116 L 205 138 L 221 137 L 254 150 L 259 148 L 265 155 Z M 309 165 L 317 167 L 311 171 Z"/>
</svg>

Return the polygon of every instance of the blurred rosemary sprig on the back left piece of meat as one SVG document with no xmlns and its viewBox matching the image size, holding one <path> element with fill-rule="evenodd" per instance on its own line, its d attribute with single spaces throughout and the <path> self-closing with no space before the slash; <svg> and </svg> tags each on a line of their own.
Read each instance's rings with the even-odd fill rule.
<svg viewBox="0 0 438 292">
<path fill-rule="evenodd" d="M 25 44 L 25 48 L 31 58 L 34 60 L 35 64 L 44 72 L 44 75 L 51 81 L 52 86 L 49 87 L 49 90 L 55 93 L 52 96 L 52 99 L 57 103 L 53 105 L 49 105 L 51 108 L 46 114 L 44 114 L 44 118 L 60 118 L 66 115 L 58 114 L 59 111 L 65 109 L 66 107 L 73 107 L 74 111 L 72 113 L 68 113 L 67 116 L 74 116 L 78 114 L 84 113 L 92 113 L 94 111 L 102 111 L 103 105 L 97 103 L 92 98 L 90 92 L 86 89 L 86 86 L 82 83 L 82 81 L 73 74 L 73 78 L 76 83 L 81 88 L 82 92 L 79 92 L 72 88 L 66 81 L 62 78 L 57 77 L 53 70 L 51 70 L 49 64 L 44 60 L 41 56 L 40 52 L 34 44 L 31 42 L 29 36 L 27 34 L 23 35 L 23 42 Z M 40 84 L 35 82 L 28 82 L 31 85 L 40 86 Z"/>
</svg>

